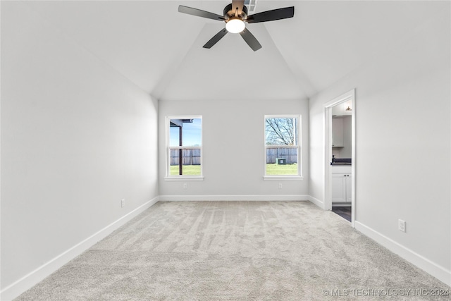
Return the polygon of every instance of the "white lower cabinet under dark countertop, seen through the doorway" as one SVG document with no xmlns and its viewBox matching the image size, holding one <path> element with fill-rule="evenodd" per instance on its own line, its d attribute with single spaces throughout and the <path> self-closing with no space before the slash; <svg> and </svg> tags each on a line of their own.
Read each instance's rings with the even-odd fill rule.
<svg viewBox="0 0 451 301">
<path fill-rule="evenodd" d="M 351 203 L 351 166 L 332 166 L 332 202 Z"/>
</svg>

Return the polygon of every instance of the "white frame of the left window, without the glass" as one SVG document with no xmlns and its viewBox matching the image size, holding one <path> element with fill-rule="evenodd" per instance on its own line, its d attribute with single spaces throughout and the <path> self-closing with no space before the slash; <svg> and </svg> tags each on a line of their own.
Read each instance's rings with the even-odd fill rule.
<svg viewBox="0 0 451 301">
<path fill-rule="evenodd" d="M 171 119 L 200 119 L 201 130 L 200 130 L 200 146 L 199 147 L 185 147 L 185 146 L 175 146 L 171 147 Z M 203 128 L 204 121 L 202 116 L 199 115 L 185 115 L 185 116 L 166 116 L 166 176 L 164 180 L 204 180 L 204 155 L 203 155 Z M 200 149 L 200 175 L 171 175 L 171 149 Z"/>
</svg>

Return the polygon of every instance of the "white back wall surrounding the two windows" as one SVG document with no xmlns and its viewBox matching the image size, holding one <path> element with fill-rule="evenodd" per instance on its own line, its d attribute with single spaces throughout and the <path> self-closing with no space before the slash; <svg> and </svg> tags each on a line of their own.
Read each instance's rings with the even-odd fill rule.
<svg viewBox="0 0 451 301">
<path fill-rule="evenodd" d="M 187 100 L 159 102 L 159 191 L 164 196 L 187 199 L 233 196 L 308 195 L 309 116 L 307 100 Z M 264 116 L 269 114 L 302 115 L 302 181 L 265 181 Z M 202 115 L 203 181 L 165 181 L 166 116 Z M 245 164 L 243 164 L 245 162 Z M 183 190 L 183 183 L 188 189 Z M 278 189 L 278 183 L 283 188 Z M 226 196 L 226 197 L 223 197 Z M 239 198 L 239 197 L 238 197 Z M 174 198 L 173 198 L 174 199 Z M 283 199 L 283 197 L 282 197 Z M 305 197 L 304 197 L 305 199 Z"/>
</svg>

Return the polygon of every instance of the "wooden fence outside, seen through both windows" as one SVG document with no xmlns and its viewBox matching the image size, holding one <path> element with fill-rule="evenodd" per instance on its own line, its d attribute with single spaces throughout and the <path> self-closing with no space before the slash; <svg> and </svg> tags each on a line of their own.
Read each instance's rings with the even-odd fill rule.
<svg viewBox="0 0 451 301">
<path fill-rule="evenodd" d="M 200 165 L 200 149 L 183 149 L 183 165 Z M 287 164 L 297 163 L 297 148 L 267 148 L 266 164 L 275 164 L 276 158 L 287 160 Z M 227 163 L 227 162 L 224 162 Z M 179 149 L 171 149 L 171 165 L 179 164 Z"/>
</svg>

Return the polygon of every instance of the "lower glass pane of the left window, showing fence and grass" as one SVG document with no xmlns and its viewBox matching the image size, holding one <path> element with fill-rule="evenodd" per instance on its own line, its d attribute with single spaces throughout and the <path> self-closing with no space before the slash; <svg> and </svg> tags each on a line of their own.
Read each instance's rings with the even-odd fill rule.
<svg viewBox="0 0 451 301">
<path fill-rule="evenodd" d="M 170 176 L 201 176 L 200 149 L 173 149 L 170 150 Z M 180 155 L 182 164 L 180 164 Z"/>
</svg>

